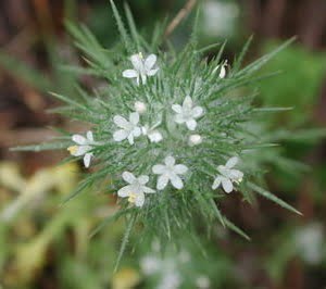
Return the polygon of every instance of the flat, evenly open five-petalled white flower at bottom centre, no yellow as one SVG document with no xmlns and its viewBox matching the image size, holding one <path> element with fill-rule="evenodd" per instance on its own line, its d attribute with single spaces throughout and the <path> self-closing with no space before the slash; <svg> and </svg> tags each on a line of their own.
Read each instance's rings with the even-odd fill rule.
<svg viewBox="0 0 326 289">
<path fill-rule="evenodd" d="M 165 165 L 156 164 L 152 167 L 154 174 L 160 175 L 156 184 L 158 190 L 163 190 L 168 181 L 176 189 L 181 189 L 184 183 L 178 175 L 184 175 L 187 173 L 188 167 L 183 164 L 175 164 L 175 159 L 173 156 L 166 156 Z"/>
</svg>

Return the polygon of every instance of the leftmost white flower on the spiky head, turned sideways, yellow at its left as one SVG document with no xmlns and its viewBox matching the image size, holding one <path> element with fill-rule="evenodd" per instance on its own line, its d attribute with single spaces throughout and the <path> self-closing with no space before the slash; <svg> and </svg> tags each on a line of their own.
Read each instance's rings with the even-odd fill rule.
<svg viewBox="0 0 326 289">
<path fill-rule="evenodd" d="M 86 137 L 82 135 L 73 135 L 72 140 L 77 144 L 68 147 L 67 150 L 74 156 L 84 155 L 84 165 L 85 167 L 89 167 L 90 159 L 93 156 L 92 150 L 93 144 L 93 136 L 91 131 L 87 131 Z"/>
</svg>

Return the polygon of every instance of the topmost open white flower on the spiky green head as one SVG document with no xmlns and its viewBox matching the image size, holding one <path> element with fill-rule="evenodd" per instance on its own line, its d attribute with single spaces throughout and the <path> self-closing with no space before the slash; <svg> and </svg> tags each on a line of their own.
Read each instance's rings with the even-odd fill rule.
<svg viewBox="0 0 326 289">
<path fill-rule="evenodd" d="M 141 83 L 145 85 L 148 76 L 153 76 L 158 73 L 159 68 L 154 68 L 156 63 L 156 55 L 150 54 L 143 59 L 142 53 L 134 54 L 130 56 L 134 70 L 126 70 L 123 72 L 123 77 L 136 78 L 137 85 Z"/>
</svg>

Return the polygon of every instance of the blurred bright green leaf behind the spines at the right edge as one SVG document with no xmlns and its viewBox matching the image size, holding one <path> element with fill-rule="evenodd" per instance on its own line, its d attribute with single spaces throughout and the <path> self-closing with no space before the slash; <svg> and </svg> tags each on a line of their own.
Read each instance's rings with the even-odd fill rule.
<svg viewBox="0 0 326 289">
<path fill-rule="evenodd" d="M 277 42 L 269 42 L 263 51 L 277 46 Z M 281 115 L 283 123 L 291 127 L 305 125 L 313 116 L 325 67 L 325 53 L 310 52 L 298 45 L 280 51 L 275 61 L 266 65 L 265 71 L 281 70 L 281 74 L 260 85 L 262 102 L 265 105 L 293 108 L 291 112 Z"/>
</svg>

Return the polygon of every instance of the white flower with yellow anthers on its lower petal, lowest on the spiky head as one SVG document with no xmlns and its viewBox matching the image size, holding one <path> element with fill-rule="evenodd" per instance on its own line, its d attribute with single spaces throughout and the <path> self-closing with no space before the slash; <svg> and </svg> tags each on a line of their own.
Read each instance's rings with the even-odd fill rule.
<svg viewBox="0 0 326 289">
<path fill-rule="evenodd" d="M 124 172 L 123 179 L 129 185 L 121 188 L 117 196 L 121 198 L 128 197 L 128 202 L 135 203 L 136 206 L 142 206 L 145 202 L 145 193 L 154 193 L 155 191 L 145 185 L 149 181 L 148 176 L 135 177 L 129 172 Z"/>
</svg>

